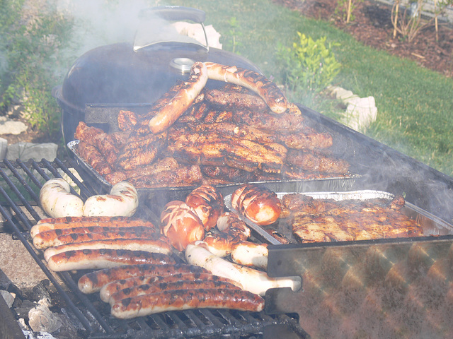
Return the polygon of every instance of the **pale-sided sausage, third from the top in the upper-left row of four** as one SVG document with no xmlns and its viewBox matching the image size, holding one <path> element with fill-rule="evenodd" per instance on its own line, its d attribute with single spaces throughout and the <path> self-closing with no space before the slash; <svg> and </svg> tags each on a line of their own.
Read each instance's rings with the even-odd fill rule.
<svg viewBox="0 0 453 339">
<path fill-rule="evenodd" d="M 50 247 L 44 251 L 44 258 L 48 261 L 55 254 L 79 249 L 127 249 L 129 251 L 171 254 L 171 244 L 160 239 L 105 239 Z"/>
</svg>

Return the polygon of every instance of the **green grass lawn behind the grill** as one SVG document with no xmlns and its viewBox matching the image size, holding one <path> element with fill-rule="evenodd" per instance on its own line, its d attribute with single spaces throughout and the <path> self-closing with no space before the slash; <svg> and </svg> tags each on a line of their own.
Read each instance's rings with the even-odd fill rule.
<svg viewBox="0 0 453 339">
<path fill-rule="evenodd" d="M 340 46 L 334 51 L 343 68 L 333 85 L 361 97 L 373 96 L 376 101 L 378 118 L 367 135 L 452 176 L 453 79 L 367 47 L 330 23 L 305 18 L 268 0 L 172 4 L 206 11 L 205 24 L 214 25 L 228 47 L 229 20 L 236 18 L 236 51 L 277 83 L 283 80 L 275 59 L 279 43 L 289 46 L 298 31 L 314 39 L 326 36 L 327 42 L 338 42 Z M 328 102 L 305 101 L 335 119 Z M 303 97 L 297 102 L 306 104 Z"/>
</svg>

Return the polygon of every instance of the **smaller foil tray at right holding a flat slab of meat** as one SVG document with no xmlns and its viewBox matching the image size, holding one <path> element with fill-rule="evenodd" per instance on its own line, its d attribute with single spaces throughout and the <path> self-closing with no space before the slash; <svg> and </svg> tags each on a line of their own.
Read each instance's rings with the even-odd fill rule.
<svg viewBox="0 0 453 339">
<path fill-rule="evenodd" d="M 394 198 L 394 194 L 390 194 L 389 192 L 385 191 L 374 191 L 374 190 L 360 190 L 360 191 L 319 191 L 319 192 L 300 192 L 300 191 L 287 191 L 287 192 L 276 192 L 278 198 L 282 198 L 285 194 L 292 194 L 292 193 L 303 193 L 307 196 L 311 196 L 315 199 L 333 199 L 335 201 L 343 201 L 343 200 L 360 200 L 365 201 L 372 198 L 383 198 L 386 200 L 392 200 Z M 252 222 L 248 218 L 243 217 L 238 213 L 231 206 L 231 194 L 224 197 L 224 202 L 226 208 L 231 210 L 232 212 L 239 215 L 239 218 L 246 222 L 248 227 L 250 227 L 254 235 L 261 239 L 263 242 L 267 242 L 268 244 L 285 244 L 285 242 L 289 242 L 292 244 L 298 244 L 297 240 L 292 235 L 292 230 L 286 225 L 282 225 L 283 223 L 274 222 L 272 225 L 268 226 L 260 226 L 256 225 L 255 222 Z M 444 220 L 437 218 L 435 215 L 428 213 L 426 210 L 418 208 L 417 206 L 413 205 L 406 201 L 405 206 L 401 208 L 401 213 L 407 215 L 409 218 L 416 220 L 420 226 L 423 228 L 423 235 L 426 237 L 429 236 L 442 236 L 447 234 L 453 234 L 453 225 L 445 222 Z M 274 235 L 273 235 L 274 234 Z M 281 239 L 285 239 L 285 242 L 282 242 Z M 356 242 L 362 242 L 367 240 L 358 240 Z M 385 241 L 385 240 L 384 240 Z M 332 243 L 318 243 L 318 244 L 332 244 Z"/>
</svg>

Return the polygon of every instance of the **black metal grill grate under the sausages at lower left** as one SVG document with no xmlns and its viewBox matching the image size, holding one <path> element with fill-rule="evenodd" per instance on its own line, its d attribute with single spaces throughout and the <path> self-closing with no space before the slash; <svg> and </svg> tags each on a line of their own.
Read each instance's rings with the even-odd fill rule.
<svg viewBox="0 0 453 339">
<path fill-rule="evenodd" d="M 70 168 L 77 165 L 72 160 L 53 162 L 29 160 L 0 163 L 0 175 L 4 184 L 0 184 L 0 213 L 5 225 L 21 240 L 33 256 L 40 269 L 55 286 L 58 294 L 69 311 L 81 323 L 81 338 L 257 338 L 263 334 L 266 326 L 287 326 L 297 329 L 297 319 L 287 315 L 268 316 L 264 312 L 249 313 L 230 310 L 190 310 L 170 311 L 164 314 L 120 321 L 113 319 L 106 304 L 98 295 L 87 296 L 77 287 L 77 277 L 69 272 L 52 273 L 42 258 L 42 253 L 30 244 L 29 231 L 45 215 L 39 206 L 39 190 L 44 182 L 52 177 L 64 177 L 74 182 L 73 194 L 86 199 L 93 194 L 105 194 L 96 189 L 96 183 L 78 179 Z M 77 191 L 80 190 L 79 193 Z M 150 210 L 139 213 L 151 215 Z M 154 216 L 155 218 L 155 216 Z M 60 283 L 69 288 L 69 292 Z"/>
</svg>

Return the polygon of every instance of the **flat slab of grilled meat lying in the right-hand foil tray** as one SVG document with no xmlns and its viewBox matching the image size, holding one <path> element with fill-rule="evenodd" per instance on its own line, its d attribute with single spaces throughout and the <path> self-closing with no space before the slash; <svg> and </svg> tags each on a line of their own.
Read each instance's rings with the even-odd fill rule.
<svg viewBox="0 0 453 339">
<path fill-rule="evenodd" d="M 292 232 L 300 242 L 422 236 L 420 225 L 398 210 L 401 198 L 333 201 L 290 194 L 282 198 L 282 214 L 290 215 Z"/>
</svg>

